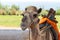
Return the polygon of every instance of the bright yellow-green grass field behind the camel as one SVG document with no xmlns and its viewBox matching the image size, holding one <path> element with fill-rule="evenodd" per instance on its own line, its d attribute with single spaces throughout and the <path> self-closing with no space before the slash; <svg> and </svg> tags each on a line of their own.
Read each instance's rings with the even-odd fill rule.
<svg viewBox="0 0 60 40">
<path fill-rule="evenodd" d="M 0 15 L 0 25 L 6 27 L 19 27 L 21 24 L 22 16 L 16 15 Z M 56 15 L 58 21 L 58 28 L 60 28 L 60 15 Z"/>
</svg>

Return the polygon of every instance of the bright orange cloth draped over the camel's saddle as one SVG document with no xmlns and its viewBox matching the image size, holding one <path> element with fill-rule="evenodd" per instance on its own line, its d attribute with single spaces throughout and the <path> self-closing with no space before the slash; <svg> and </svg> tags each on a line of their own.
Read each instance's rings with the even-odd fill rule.
<svg viewBox="0 0 60 40">
<path fill-rule="evenodd" d="M 42 24 L 44 23 L 45 21 L 47 21 L 47 23 L 49 23 L 50 25 L 52 25 L 53 29 L 58 33 L 58 40 L 59 40 L 59 30 L 58 30 L 58 27 L 57 27 L 57 23 L 53 22 L 52 20 L 48 19 L 48 18 L 42 18 L 40 21 L 39 21 L 39 24 Z"/>
</svg>

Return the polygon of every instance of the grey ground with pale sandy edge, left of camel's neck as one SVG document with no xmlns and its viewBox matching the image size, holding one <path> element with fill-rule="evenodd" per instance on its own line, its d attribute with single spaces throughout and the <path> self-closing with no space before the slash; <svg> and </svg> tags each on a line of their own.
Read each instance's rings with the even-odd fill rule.
<svg viewBox="0 0 60 40">
<path fill-rule="evenodd" d="M 0 40 L 29 40 L 29 30 L 22 31 L 21 28 L 1 27 Z"/>
</svg>

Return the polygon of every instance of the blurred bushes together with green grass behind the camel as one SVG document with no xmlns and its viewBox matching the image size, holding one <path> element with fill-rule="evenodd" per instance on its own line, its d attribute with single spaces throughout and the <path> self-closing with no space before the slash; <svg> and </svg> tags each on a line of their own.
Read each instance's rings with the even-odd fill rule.
<svg viewBox="0 0 60 40">
<path fill-rule="evenodd" d="M 19 6 L 12 5 L 3 6 L 0 3 L 0 26 L 19 27 L 21 24 L 22 11 Z M 43 9 L 41 14 L 47 14 L 48 10 Z M 60 28 L 60 8 L 56 10 L 56 20 L 58 20 L 58 28 Z"/>
</svg>

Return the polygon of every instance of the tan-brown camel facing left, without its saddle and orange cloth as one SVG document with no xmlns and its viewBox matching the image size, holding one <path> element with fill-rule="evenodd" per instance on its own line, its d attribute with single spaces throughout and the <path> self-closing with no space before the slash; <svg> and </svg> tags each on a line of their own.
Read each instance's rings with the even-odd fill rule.
<svg viewBox="0 0 60 40">
<path fill-rule="evenodd" d="M 25 8 L 25 11 L 21 14 L 23 16 L 21 28 L 22 30 L 30 29 L 30 39 L 29 40 L 54 40 L 52 32 L 50 29 L 44 31 L 44 28 L 40 30 L 38 18 L 39 13 L 41 13 L 42 8 L 37 9 L 35 6 L 29 6 Z"/>
</svg>

